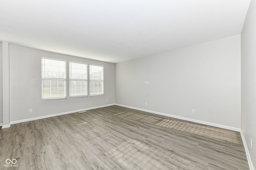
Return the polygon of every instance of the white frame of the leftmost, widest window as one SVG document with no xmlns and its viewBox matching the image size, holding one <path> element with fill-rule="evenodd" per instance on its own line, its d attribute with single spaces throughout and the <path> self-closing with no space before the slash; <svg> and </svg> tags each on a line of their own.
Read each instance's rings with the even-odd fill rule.
<svg viewBox="0 0 256 170">
<path fill-rule="evenodd" d="M 43 78 L 42 59 L 65 62 L 65 71 L 63 73 L 64 73 L 64 77 L 66 77 L 66 78 Z M 44 66 L 45 66 L 45 63 L 44 63 Z M 64 91 L 64 96 L 63 97 L 58 97 L 58 98 L 52 98 L 52 97 L 43 98 L 43 96 L 44 96 L 44 83 L 43 83 L 44 80 L 64 81 L 64 90 L 63 90 Z M 54 58 L 48 58 L 48 57 L 41 57 L 41 91 L 42 91 L 42 93 L 41 93 L 42 101 L 67 99 L 67 61 L 66 60 L 54 59 Z"/>
</svg>

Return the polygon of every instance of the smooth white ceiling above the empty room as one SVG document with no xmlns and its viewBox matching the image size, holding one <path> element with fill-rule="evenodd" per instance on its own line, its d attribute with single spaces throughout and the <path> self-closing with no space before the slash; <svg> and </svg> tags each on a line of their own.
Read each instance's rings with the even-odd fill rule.
<svg viewBox="0 0 256 170">
<path fill-rule="evenodd" d="M 250 0 L 0 0 L 0 41 L 118 63 L 240 34 Z"/>
</svg>

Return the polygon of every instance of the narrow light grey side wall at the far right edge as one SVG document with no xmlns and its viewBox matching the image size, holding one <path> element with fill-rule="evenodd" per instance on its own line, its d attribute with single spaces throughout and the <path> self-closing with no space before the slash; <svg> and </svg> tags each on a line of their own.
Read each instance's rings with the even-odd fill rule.
<svg viewBox="0 0 256 170">
<path fill-rule="evenodd" d="M 241 74 L 242 133 L 256 168 L 256 0 L 251 1 L 241 34 Z"/>
</svg>

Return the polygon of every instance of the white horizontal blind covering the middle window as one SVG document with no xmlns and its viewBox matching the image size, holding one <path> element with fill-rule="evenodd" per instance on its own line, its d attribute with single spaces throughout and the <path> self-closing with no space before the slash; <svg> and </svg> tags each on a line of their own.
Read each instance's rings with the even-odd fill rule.
<svg viewBox="0 0 256 170">
<path fill-rule="evenodd" d="M 69 96 L 87 96 L 87 64 L 69 62 Z"/>
</svg>

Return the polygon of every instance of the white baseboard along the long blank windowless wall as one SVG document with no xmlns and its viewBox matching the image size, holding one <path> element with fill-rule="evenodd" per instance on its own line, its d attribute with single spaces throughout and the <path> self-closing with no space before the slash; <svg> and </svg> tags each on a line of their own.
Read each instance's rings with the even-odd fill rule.
<svg viewBox="0 0 256 170">
<path fill-rule="evenodd" d="M 211 123 L 211 122 L 207 122 L 207 121 L 200 121 L 200 120 L 196 120 L 196 119 L 190 119 L 190 118 L 186 118 L 186 117 L 180 117 L 180 116 L 176 116 L 176 115 L 170 115 L 170 114 L 161 113 L 161 112 L 157 112 L 157 111 L 151 111 L 151 110 L 146 110 L 146 109 L 140 109 L 140 108 L 137 108 L 137 107 L 125 106 L 125 105 L 121 105 L 121 104 L 115 104 L 115 105 L 117 105 L 117 106 L 122 106 L 122 107 L 128 107 L 128 108 L 131 108 L 131 109 L 136 109 L 136 110 L 141 110 L 141 111 L 146 111 L 146 112 L 149 112 L 149 113 L 155 113 L 155 114 L 158 114 L 158 115 L 164 115 L 164 116 L 168 116 L 168 117 L 173 117 L 173 118 L 176 118 L 176 119 L 182 119 L 182 120 L 186 120 L 186 121 L 192 121 L 192 122 L 195 122 L 195 123 L 201 123 L 201 124 L 204 124 L 204 125 L 210 125 L 210 126 L 214 126 L 214 127 L 220 127 L 220 128 L 228 129 L 228 130 L 232 130 L 232 131 L 238 131 L 238 132 L 241 131 L 240 128 L 230 127 L 230 126 L 226 126 L 226 125 L 219 125 L 219 124 Z"/>
</svg>

